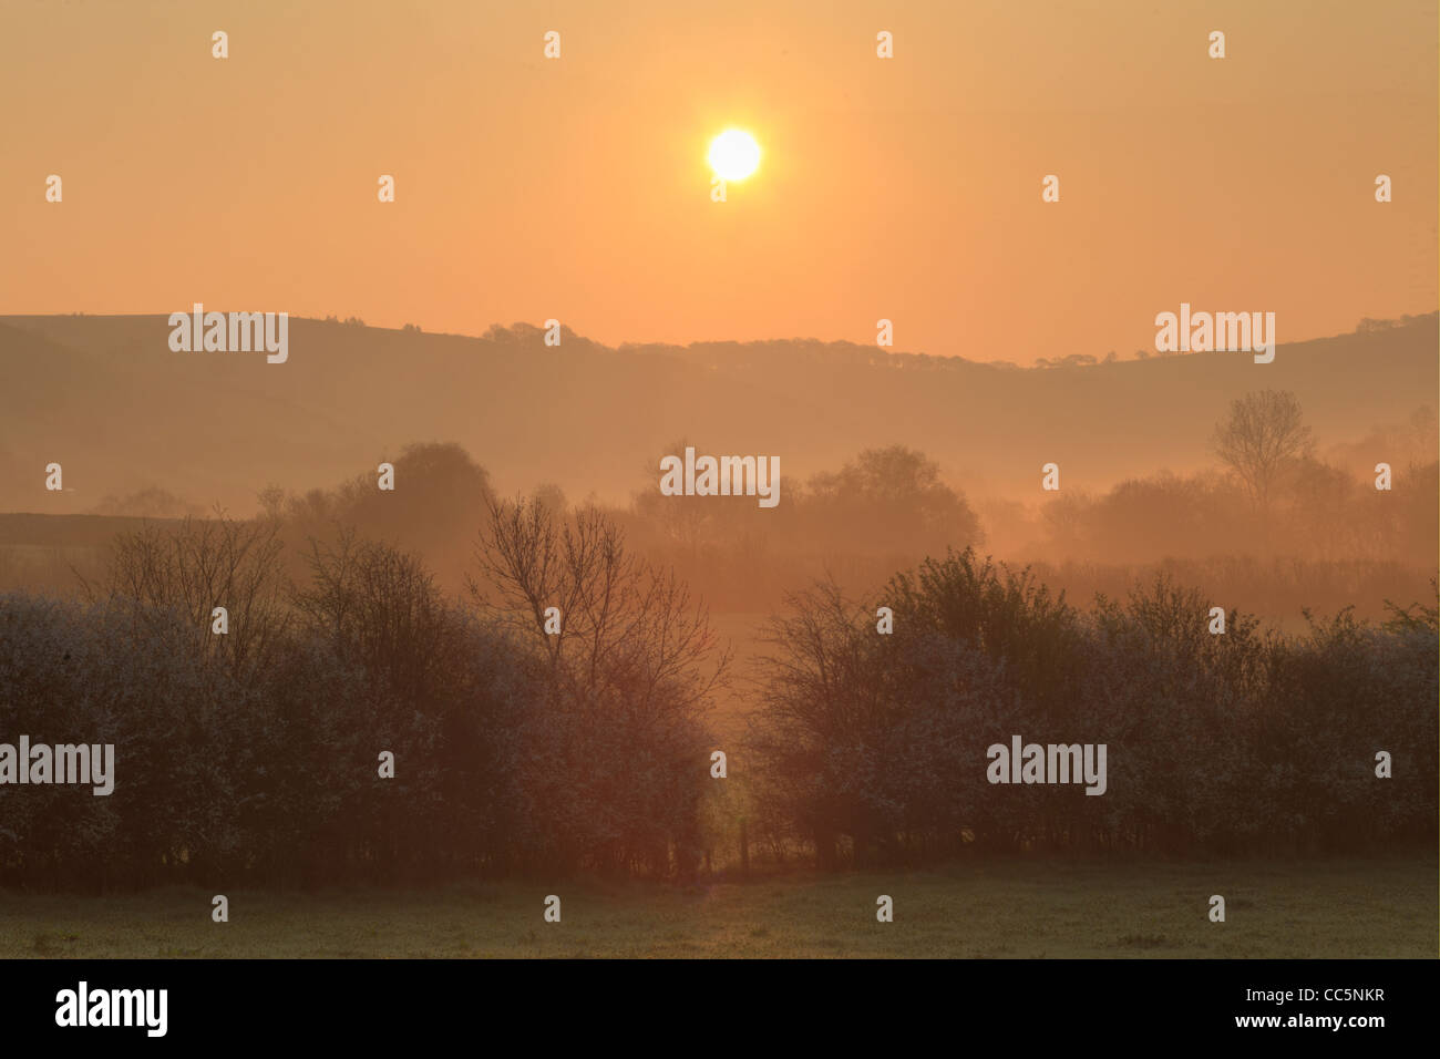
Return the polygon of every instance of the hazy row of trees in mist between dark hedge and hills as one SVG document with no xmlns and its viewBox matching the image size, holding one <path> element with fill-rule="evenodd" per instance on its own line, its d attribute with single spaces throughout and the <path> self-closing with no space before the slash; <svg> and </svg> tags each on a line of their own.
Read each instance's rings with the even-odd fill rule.
<svg viewBox="0 0 1440 1059">
<path fill-rule="evenodd" d="M 1259 392 L 1217 425 L 1217 465 L 1156 473 L 1104 493 L 1040 488 L 1035 500 L 976 500 L 948 483 L 924 452 L 890 445 L 857 452 L 808 478 L 782 465 L 779 504 L 755 497 L 662 496 L 658 460 L 683 452 L 675 439 L 636 467 L 639 488 L 605 510 L 631 548 L 672 568 L 719 612 L 766 612 L 785 594 L 834 576 L 873 591 L 927 555 L 973 546 L 1044 572 L 1053 591 L 1090 598 L 1169 572 L 1184 584 L 1295 627 L 1302 608 L 1354 605 L 1381 620 L 1387 598 L 1414 599 L 1436 572 L 1440 463 L 1436 416 L 1418 408 L 1401 426 L 1315 454 L 1293 396 Z M 701 450 L 704 451 L 704 450 Z M 1384 454 L 1380 460 L 1377 454 Z M 311 537 L 333 543 L 340 527 L 422 555 L 446 592 L 465 586 L 475 526 L 497 490 L 488 471 L 455 444 L 415 444 L 390 458 L 396 491 L 367 471 L 331 488 L 261 494 L 282 524 L 282 560 L 307 575 Z M 1388 470 L 1378 474 L 1377 464 Z M 1377 488 L 1385 478 L 1390 488 Z M 553 484 L 533 490 L 557 514 L 570 500 Z M 589 503 L 589 501 L 588 501 Z M 164 490 L 108 497 L 96 511 L 170 520 L 194 514 Z M 117 519 L 0 516 L 0 588 L 66 591 L 69 566 L 94 578 Z"/>
</svg>

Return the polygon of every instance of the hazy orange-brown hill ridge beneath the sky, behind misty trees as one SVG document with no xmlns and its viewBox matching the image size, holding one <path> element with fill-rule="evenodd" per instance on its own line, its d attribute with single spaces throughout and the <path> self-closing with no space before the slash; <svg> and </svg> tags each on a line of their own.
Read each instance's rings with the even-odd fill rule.
<svg viewBox="0 0 1440 1059">
<path fill-rule="evenodd" d="M 461 444 L 501 491 L 549 481 L 576 499 L 652 484 L 680 438 L 779 455 L 789 481 L 900 442 L 968 493 L 1034 497 L 1047 461 L 1080 488 L 1212 464 L 1214 424 L 1256 389 L 1293 390 L 1326 447 L 1433 406 L 1440 382 L 1436 314 L 1280 344 L 1270 365 L 1195 353 L 1034 369 L 981 362 L 1005 350 L 611 349 L 569 330 L 547 347 L 527 324 L 461 337 L 300 318 L 288 362 L 268 365 L 174 353 L 168 334 L 163 316 L 0 317 L 0 509 L 72 514 L 160 487 L 248 513 L 268 484 L 340 481 L 413 441 Z M 43 488 L 52 461 L 65 493 Z"/>
</svg>

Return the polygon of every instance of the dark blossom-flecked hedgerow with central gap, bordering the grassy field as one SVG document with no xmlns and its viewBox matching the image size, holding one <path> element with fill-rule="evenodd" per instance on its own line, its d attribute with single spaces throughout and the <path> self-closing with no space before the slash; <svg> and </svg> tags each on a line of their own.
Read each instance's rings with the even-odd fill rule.
<svg viewBox="0 0 1440 1059">
<path fill-rule="evenodd" d="M 115 745 L 109 797 L 0 787 L 0 885 L 685 879 L 737 823 L 717 800 L 757 856 L 822 866 L 1434 837 L 1428 602 L 1217 634 L 1164 581 L 1079 611 L 952 552 L 864 604 L 792 596 L 750 735 L 717 746 L 729 658 L 683 582 L 593 507 L 491 500 L 478 524 L 464 599 L 348 530 L 292 578 L 275 517 L 150 526 L 85 599 L 0 596 L 0 742 Z M 1012 735 L 1106 743 L 1106 794 L 989 784 Z"/>
</svg>

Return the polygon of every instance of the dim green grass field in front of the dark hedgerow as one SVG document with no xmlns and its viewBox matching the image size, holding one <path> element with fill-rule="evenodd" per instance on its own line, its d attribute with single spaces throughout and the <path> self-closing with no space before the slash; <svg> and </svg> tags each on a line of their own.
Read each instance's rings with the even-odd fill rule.
<svg viewBox="0 0 1440 1059">
<path fill-rule="evenodd" d="M 543 921 L 547 893 L 562 922 Z M 876 898 L 894 898 L 894 922 Z M 1224 924 L 1208 919 L 1225 898 Z M 19 957 L 1434 957 L 1437 860 L 1002 860 L 693 888 L 0 893 Z"/>
</svg>

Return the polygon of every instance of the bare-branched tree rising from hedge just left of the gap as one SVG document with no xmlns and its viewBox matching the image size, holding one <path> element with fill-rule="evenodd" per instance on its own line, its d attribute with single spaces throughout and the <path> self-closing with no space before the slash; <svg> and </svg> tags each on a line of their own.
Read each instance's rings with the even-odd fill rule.
<svg viewBox="0 0 1440 1059">
<path fill-rule="evenodd" d="M 549 664 L 520 784 L 556 821 L 556 853 L 602 870 L 693 876 L 713 743 L 704 712 L 729 664 L 706 609 L 671 571 L 629 553 L 589 504 L 562 516 L 537 497 L 492 500 L 477 559 L 474 595 Z"/>
</svg>

